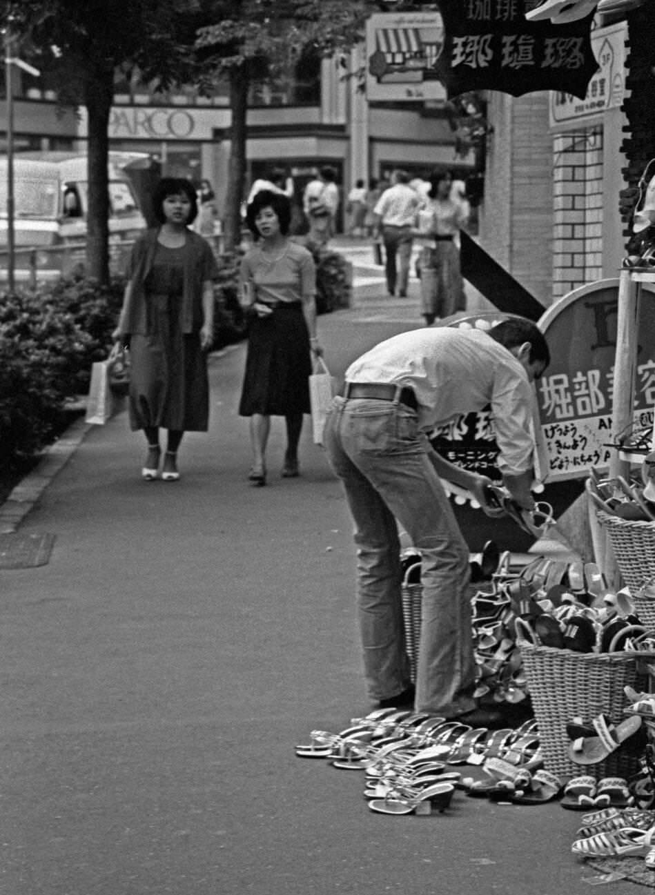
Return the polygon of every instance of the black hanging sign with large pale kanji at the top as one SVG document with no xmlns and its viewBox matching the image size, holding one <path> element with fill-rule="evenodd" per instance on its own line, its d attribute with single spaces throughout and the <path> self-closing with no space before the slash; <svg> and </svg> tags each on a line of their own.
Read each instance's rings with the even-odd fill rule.
<svg viewBox="0 0 655 895">
<path fill-rule="evenodd" d="M 598 69 L 593 13 L 555 25 L 528 21 L 524 0 L 440 0 L 448 95 L 500 90 L 513 97 L 563 90 L 583 98 Z"/>
</svg>

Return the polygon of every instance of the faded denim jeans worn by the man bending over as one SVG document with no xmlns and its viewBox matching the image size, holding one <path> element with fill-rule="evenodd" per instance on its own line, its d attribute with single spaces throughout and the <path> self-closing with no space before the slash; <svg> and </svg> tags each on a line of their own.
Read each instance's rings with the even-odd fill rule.
<svg viewBox="0 0 655 895">
<path fill-rule="evenodd" d="M 357 607 L 371 700 L 410 686 L 397 522 L 421 551 L 423 599 L 417 712 L 454 717 L 475 707 L 469 550 L 416 413 L 396 401 L 336 397 L 325 447 L 344 484 L 357 546 Z"/>
</svg>

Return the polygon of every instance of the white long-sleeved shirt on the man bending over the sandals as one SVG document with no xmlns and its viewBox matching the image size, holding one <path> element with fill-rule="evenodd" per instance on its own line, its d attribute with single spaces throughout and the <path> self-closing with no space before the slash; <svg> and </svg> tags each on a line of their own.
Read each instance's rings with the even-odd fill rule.
<svg viewBox="0 0 655 895">
<path fill-rule="evenodd" d="M 413 388 L 421 430 L 490 404 L 499 467 L 514 475 L 532 469 L 532 385 L 514 354 L 480 329 L 426 327 L 401 333 L 351 363 L 345 379 Z"/>
</svg>

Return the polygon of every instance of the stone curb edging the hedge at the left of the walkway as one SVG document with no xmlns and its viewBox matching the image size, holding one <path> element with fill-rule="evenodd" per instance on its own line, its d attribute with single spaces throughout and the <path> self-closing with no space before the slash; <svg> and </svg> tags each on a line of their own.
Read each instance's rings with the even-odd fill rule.
<svg viewBox="0 0 655 895">
<path fill-rule="evenodd" d="M 55 475 L 64 468 L 73 453 L 86 438 L 90 422 L 75 420 L 54 444 L 46 447 L 41 459 L 0 506 L 0 534 L 15 532 L 25 516 L 37 503 Z"/>
</svg>

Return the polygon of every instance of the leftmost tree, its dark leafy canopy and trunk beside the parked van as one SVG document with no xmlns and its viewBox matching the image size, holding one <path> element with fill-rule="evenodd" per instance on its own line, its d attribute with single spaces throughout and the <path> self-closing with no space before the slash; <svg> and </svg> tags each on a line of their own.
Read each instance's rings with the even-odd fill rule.
<svg viewBox="0 0 655 895">
<path fill-rule="evenodd" d="M 14 47 L 54 78 L 62 106 L 83 106 L 89 122 L 87 268 L 109 278 L 107 162 L 116 72 L 140 71 L 166 89 L 195 75 L 193 44 L 201 0 L 21 0 L 0 22 Z"/>
</svg>

